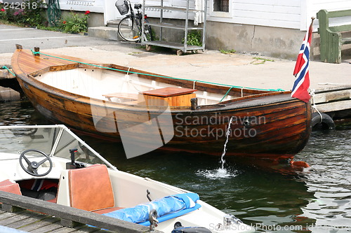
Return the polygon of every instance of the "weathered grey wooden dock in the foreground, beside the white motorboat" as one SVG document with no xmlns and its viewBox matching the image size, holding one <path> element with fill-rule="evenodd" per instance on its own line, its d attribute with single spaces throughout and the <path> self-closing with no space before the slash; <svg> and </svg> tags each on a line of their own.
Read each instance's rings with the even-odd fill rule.
<svg viewBox="0 0 351 233">
<path fill-rule="evenodd" d="M 22 232 L 149 232 L 149 227 L 0 191 L 0 225 Z M 30 211 L 29 211 L 30 210 Z M 91 227 L 93 225 L 95 227 Z M 155 230 L 154 233 L 160 233 Z"/>
</svg>

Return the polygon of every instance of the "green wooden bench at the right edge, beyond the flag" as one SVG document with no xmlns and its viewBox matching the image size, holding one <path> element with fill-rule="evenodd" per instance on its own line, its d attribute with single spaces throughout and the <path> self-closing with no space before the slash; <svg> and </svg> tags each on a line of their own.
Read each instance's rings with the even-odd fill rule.
<svg viewBox="0 0 351 233">
<path fill-rule="evenodd" d="M 351 10 L 319 10 L 317 19 L 319 20 L 318 34 L 321 36 L 321 61 L 329 63 L 341 62 L 341 45 L 351 43 L 351 37 L 343 37 L 343 32 L 351 31 L 350 24 L 340 26 L 329 26 L 329 18 L 351 16 Z"/>
</svg>

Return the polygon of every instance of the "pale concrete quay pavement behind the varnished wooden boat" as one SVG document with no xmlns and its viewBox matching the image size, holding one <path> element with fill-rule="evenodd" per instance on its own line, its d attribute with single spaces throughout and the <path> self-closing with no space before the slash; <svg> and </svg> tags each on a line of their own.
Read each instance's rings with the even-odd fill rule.
<svg viewBox="0 0 351 233">
<path fill-rule="evenodd" d="M 23 48 L 39 47 L 42 52 L 131 66 L 165 76 L 243 87 L 291 90 L 295 80 L 292 75 L 295 62 L 284 59 L 259 55 L 225 55 L 216 50 L 177 56 L 175 50 L 154 49 L 147 52 L 138 44 L 124 41 L 108 41 L 56 31 L 15 29 L 0 24 L 0 64 L 11 63 L 15 44 L 20 43 Z M 8 34 L 10 31 L 11 34 Z M 303 38 L 301 42 L 302 40 Z M 347 60 L 341 64 L 312 61 L 310 82 L 310 87 L 316 90 L 351 85 L 351 64 Z"/>
</svg>

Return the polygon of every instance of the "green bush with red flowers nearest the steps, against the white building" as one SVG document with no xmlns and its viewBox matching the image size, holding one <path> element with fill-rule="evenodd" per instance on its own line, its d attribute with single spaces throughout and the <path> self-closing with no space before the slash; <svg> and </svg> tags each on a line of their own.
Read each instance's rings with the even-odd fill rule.
<svg viewBox="0 0 351 233">
<path fill-rule="evenodd" d="M 84 15 L 79 15 L 72 12 L 69 13 L 69 16 L 62 20 L 60 28 L 65 33 L 80 33 L 86 31 L 89 13 L 90 11 L 88 10 L 86 10 Z"/>
</svg>

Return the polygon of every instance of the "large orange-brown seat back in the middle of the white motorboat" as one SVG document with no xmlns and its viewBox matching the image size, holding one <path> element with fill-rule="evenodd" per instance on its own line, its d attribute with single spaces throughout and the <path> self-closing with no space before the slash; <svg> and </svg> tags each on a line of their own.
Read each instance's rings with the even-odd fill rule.
<svg viewBox="0 0 351 233">
<path fill-rule="evenodd" d="M 107 167 L 95 164 L 68 171 L 69 198 L 72 207 L 97 211 L 114 207 L 114 194 Z"/>
</svg>

